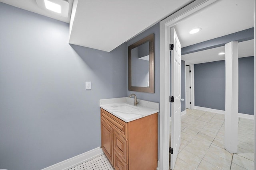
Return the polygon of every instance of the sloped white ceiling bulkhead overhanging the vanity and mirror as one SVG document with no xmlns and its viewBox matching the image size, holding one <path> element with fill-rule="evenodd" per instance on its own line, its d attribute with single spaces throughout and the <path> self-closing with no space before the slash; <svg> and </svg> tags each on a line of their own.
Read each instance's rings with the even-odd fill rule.
<svg viewBox="0 0 256 170">
<path fill-rule="evenodd" d="M 79 0 L 69 43 L 112 51 L 192 0 Z"/>
</svg>

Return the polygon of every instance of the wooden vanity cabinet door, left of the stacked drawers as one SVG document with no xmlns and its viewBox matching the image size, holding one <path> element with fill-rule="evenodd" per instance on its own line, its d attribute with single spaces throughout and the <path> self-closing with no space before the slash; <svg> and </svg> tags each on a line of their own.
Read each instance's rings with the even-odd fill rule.
<svg viewBox="0 0 256 170">
<path fill-rule="evenodd" d="M 113 129 L 101 120 L 101 148 L 113 165 Z"/>
</svg>

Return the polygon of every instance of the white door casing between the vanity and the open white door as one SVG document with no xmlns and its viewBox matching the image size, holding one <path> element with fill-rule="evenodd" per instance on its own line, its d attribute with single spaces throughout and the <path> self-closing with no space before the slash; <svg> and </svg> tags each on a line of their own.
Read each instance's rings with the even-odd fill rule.
<svg viewBox="0 0 256 170">
<path fill-rule="evenodd" d="M 160 21 L 160 144 L 158 170 L 169 169 L 170 140 L 170 28 L 194 12 L 216 0 L 195 0 L 168 18 Z M 172 82 L 174 83 L 174 82 Z"/>
</svg>

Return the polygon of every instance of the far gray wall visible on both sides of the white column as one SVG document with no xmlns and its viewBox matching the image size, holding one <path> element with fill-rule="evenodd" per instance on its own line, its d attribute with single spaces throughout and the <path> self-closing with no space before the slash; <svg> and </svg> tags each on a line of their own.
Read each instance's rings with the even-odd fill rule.
<svg viewBox="0 0 256 170">
<path fill-rule="evenodd" d="M 254 57 L 238 59 L 238 112 L 254 115 Z M 195 106 L 225 110 L 225 61 L 194 64 Z"/>
</svg>

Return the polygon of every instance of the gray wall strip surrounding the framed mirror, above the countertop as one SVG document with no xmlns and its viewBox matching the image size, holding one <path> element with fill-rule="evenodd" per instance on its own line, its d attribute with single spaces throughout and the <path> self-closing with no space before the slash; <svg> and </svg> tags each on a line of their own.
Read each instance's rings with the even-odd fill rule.
<svg viewBox="0 0 256 170">
<path fill-rule="evenodd" d="M 126 91 L 126 95 L 129 96 L 130 94 L 134 93 L 136 94 L 138 99 L 142 99 L 142 100 L 148 100 L 148 101 L 152 101 L 152 102 L 160 102 L 160 52 L 159 52 L 159 23 L 157 23 L 156 25 L 153 25 L 152 27 L 150 27 L 149 29 L 147 29 L 146 31 L 140 33 L 139 35 L 137 35 L 136 37 L 130 39 L 127 43 L 126 43 L 126 50 L 128 51 L 128 46 L 132 45 L 133 43 L 136 43 L 137 41 L 139 41 L 140 39 L 150 35 L 154 33 L 154 69 L 155 69 L 155 93 L 142 93 L 142 92 L 134 92 L 134 91 L 129 91 L 128 90 L 128 83 L 127 83 L 127 91 Z M 127 75 L 128 75 L 128 53 L 127 53 Z M 128 82 L 128 76 L 127 76 L 127 82 Z"/>
</svg>

